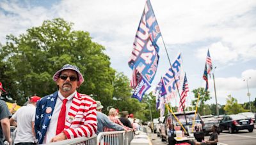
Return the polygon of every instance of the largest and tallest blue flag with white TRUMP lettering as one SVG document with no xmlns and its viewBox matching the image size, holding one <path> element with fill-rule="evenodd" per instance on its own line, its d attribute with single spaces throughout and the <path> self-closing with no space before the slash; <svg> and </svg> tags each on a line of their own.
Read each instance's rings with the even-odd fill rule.
<svg viewBox="0 0 256 145">
<path fill-rule="evenodd" d="M 128 62 L 129 67 L 133 70 L 131 87 L 134 88 L 134 94 L 132 97 L 139 100 L 143 97 L 143 93 L 150 88 L 150 83 L 152 83 L 157 71 L 159 60 L 157 39 L 160 36 L 161 32 L 148 0 L 141 16 Z"/>
</svg>

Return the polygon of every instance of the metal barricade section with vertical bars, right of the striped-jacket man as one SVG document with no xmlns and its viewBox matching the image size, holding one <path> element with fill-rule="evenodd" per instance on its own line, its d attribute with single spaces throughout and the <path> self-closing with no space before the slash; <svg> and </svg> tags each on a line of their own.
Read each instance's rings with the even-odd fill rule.
<svg viewBox="0 0 256 145">
<path fill-rule="evenodd" d="M 133 139 L 133 132 L 100 132 L 97 145 L 129 145 Z"/>
</svg>

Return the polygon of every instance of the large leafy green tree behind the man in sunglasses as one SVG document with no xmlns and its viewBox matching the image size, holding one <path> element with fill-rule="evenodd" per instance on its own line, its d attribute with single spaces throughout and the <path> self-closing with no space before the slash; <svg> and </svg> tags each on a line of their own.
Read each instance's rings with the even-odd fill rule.
<svg viewBox="0 0 256 145">
<path fill-rule="evenodd" d="M 115 70 L 104 46 L 93 42 L 89 32 L 72 31 L 72 25 L 56 18 L 18 37 L 6 36 L 6 44 L 0 45 L 0 79 L 18 104 L 31 95 L 56 91 L 52 75 L 64 64 L 74 64 L 82 72 L 85 81 L 79 92 L 102 102 L 112 98 Z"/>
</svg>

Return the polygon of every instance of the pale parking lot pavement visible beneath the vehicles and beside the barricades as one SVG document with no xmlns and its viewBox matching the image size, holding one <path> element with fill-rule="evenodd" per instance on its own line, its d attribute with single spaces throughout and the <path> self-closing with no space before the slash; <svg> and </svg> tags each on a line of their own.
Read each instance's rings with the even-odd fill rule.
<svg viewBox="0 0 256 145">
<path fill-rule="evenodd" d="M 154 145 L 163 145 L 166 142 L 162 142 L 160 137 L 157 137 L 156 134 L 148 134 L 152 144 Z M 205 139 L 209 139 L 209 135 L 205 136 Z M 248 130 L 239 130 L 238 133 L 229 134 L 228 132 L 222 132 L 218 136 L 218 141 L 220 145 L 255 145 L 256 144 L 256 129 L 253 132 L 249 133 Z"/>
</svg>

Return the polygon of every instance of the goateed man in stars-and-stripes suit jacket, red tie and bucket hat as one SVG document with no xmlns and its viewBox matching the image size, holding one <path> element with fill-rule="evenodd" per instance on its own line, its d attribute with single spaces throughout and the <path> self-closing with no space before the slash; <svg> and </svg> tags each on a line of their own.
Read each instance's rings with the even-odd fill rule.
<svg viewBox="0 0 256 145">
<path fill-rule="evenodd" d="M 84 81 L 83 75 L 76 66 L 66 64 L 52 78 L 59 90 L 36 104 L 38 144 L 91 137 L 97 130 L 96 102 L 76 91 Z"/>
</svg>

